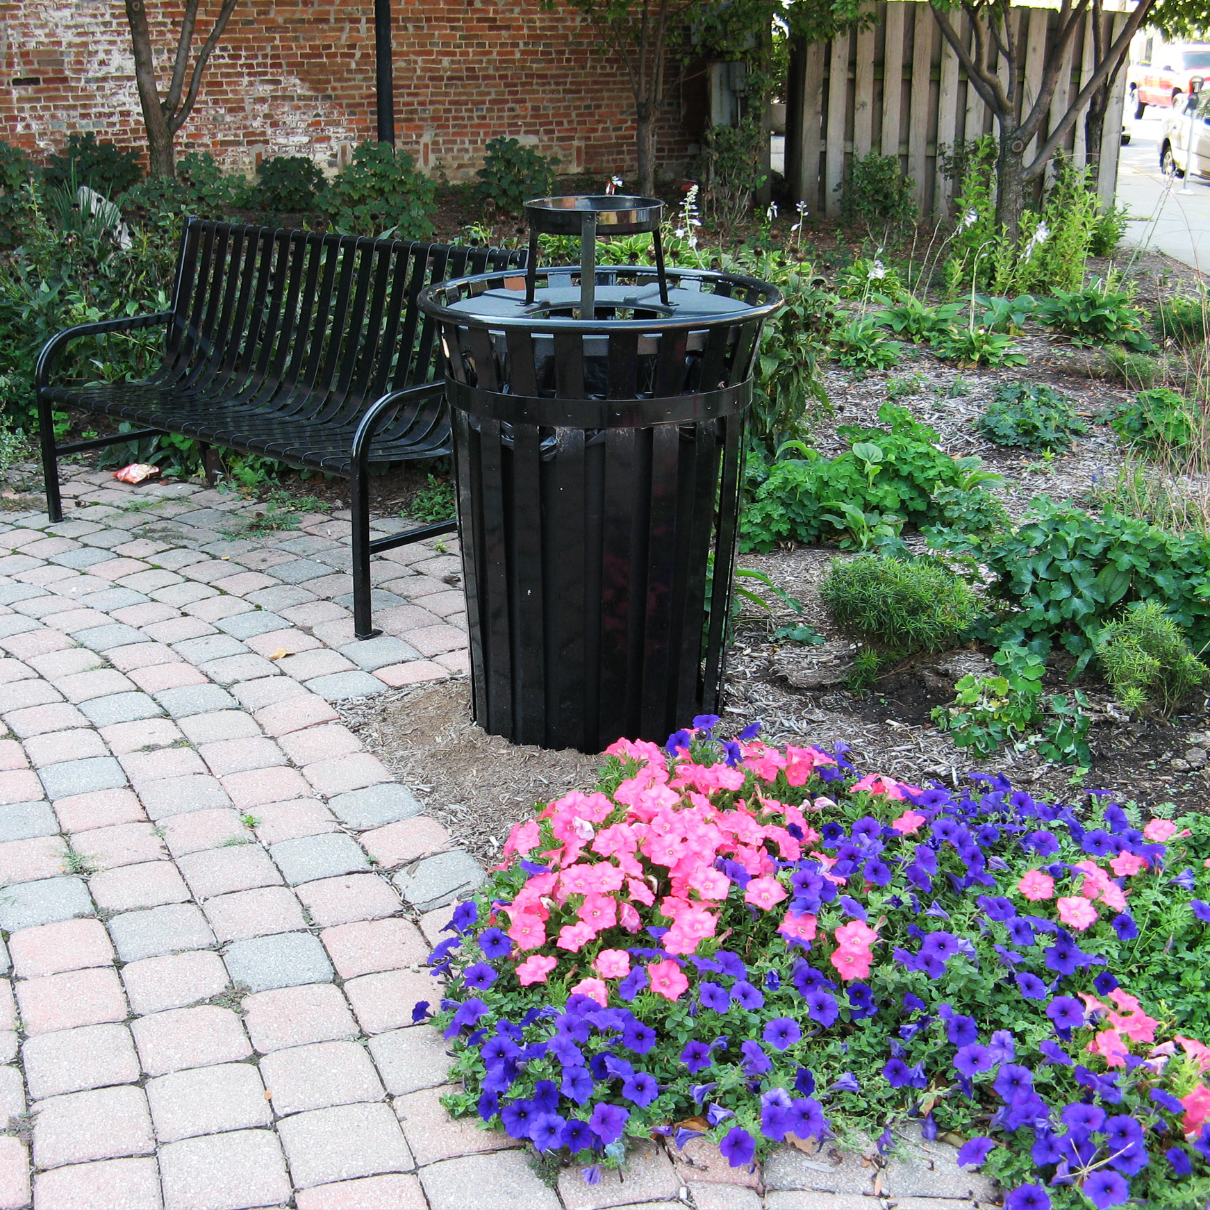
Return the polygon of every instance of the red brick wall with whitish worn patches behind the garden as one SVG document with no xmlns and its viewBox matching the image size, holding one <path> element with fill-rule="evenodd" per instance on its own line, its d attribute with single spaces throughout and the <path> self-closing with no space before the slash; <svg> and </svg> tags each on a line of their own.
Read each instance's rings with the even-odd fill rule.
<svg viewBox="0 0 1210 1210">
<path fill-rule="evenodd" d="M 173 0 L 149 0 L 161 75 Z M 203 0 L 200 45 L 217 0 Z M 462 179 L 497 134 L 536 142 L 560 171 L 633 177 L 626 76 L 582 18 L 537 0 L 394 0 L 396 132 L 426 168 Z M 15 83 L 31 76 L 38 85 Z M 688 138 L 672 75 L 659 159 L 680 171 Z M 240 0 L 206 71 L 178 150 L 232 169 L 261 156 L 336 166 L 375 129 L 374 6 Z M 0 139 L 48 151 L 73 131 L 143 146 L 122 0 L 0 0 Z"/>
</svg>

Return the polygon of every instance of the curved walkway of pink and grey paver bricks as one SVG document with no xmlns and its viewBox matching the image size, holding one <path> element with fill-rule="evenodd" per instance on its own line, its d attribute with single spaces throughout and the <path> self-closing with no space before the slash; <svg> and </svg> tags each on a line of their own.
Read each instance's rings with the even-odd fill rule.
<svg viewBox="0 0 1210 1210">
<path fill-rule="evenodd" d="M 465 669 L 454 543 L 375 560 L 386 633 L 359 644 L 339 515 L 232 538 L 249 506 L 220 492 L 64 492 L 62 524 L 0 514 L 0 1210 L 991 1197 L 939 1146 L 737 1174 L 650 1145 L 624 1177 L 553 1189 L 451 1122 L 444 1043 L 411 1007 L 480 871 L 330 703 Z"/>
</svg>

